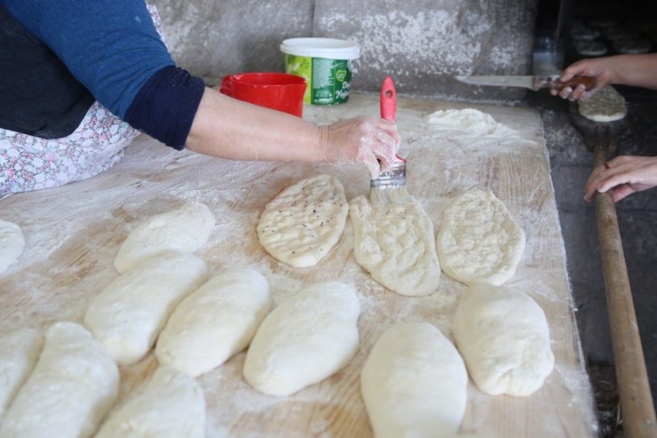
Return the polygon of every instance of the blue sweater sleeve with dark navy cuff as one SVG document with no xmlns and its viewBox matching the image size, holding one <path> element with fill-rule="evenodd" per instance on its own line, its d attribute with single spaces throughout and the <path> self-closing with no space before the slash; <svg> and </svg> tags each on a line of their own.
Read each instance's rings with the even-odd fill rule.
<svg viewBox="0 0 657 438">
<path fill-rule="evenodd" d="M 112 113 L 171 147 L 184 147 L 204 86 L 200 78 L 176 68 L 144 0 L 0 0 L 0 5 L 28 37 L 43 43 L 54 54 L 51 58 L 66 66 L 71 81 L 82 84 Z M 3 37 L 7 38 L 0 33 Z M 12 37 L 12 45 L 0 41 L 0 60 L 2 52 L 5 59 L 28 56 L 18 52 L 15 32 Z M 29 83 L 40 80 L 30 71 L 22 74 L 26 85 L 22 91 L 13 90 L 15 96 L 24 96 Z M 62 92 L 66 87 L 39 99 L 48 105 L 53 97 L 61 99 Z M 0 99 L 11 99 L 12 94 Z"/>
</svg>

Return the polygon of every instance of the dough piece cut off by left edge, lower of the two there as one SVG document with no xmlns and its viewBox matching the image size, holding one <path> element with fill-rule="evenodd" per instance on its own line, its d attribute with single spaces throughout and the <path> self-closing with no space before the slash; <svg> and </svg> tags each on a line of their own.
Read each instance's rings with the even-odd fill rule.
<svg viewBox="0 0 657 438">
<path fill-rule="evenodd" d="M 0 418 L 34 369 L 42 346 L 44 337 L 29 327 L 0 337 Z"/>
</svg>

